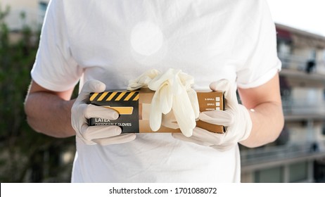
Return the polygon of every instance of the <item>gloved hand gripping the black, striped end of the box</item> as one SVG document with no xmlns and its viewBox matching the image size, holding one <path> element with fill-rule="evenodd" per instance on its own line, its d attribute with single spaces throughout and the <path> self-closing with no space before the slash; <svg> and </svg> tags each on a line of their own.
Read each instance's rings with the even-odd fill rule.
<svg viewBox="0 0 325 197">
<path fill-rule="evenodd" d="M 121 134 L 122 129 L 118 126 L 91 126 L 89 127 L 87 119 L 91 117 L 100 117 L 108 120 L 116 120 L 119 114 L 110 108 L 94 106 L 89 104 L 89 94 L 91 92 L 103 92 L 106 85 L 97 80 L 89 80 L 84 84 L 75 103 L 71 109 L 71 123 L 75 129 L 77 137 L 84 144 L 121 144 L 135 139 L 136 134 Z"/>
</svg>

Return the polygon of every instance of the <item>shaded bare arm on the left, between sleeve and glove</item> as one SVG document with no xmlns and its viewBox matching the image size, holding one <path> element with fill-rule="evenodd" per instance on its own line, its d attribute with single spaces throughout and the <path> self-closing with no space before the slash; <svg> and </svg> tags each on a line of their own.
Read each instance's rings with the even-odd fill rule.
<svg viewBox="0 0 325 197">
<path fill-rule="evenodd" d="M 74 136 L 71 108 L 75 100 L 70 100 L 72 91 L 50 91 L 32 81 L 25 99 L 25 113 L 30 127 L 49 136 Z"/>
</svg>

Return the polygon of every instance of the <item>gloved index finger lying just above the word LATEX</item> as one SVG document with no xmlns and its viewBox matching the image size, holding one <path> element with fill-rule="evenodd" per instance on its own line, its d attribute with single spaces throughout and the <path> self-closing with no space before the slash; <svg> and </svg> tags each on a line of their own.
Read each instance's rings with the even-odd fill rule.
<svg viewBox="0 0 325 197">
<path fill-rule="evenodd" d="M 119 113 L 111 108 L 88 104 L 84 111 L 84 117 L 101 117 L 108 120 L 116 120 L 119 117 Z"/>
</svg>

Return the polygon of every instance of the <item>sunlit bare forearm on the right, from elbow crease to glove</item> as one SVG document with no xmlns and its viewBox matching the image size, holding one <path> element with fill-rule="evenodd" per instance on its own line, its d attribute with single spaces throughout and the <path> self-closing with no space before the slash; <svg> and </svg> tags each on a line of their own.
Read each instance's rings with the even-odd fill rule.
<svg viewBox="0 0 325 197">
<path fill-rule="evenodd" d="M 248 139 L 240 142 L 243 146 L 262 146 L 278 138 L 284 124 L 281 103 L 261 103 L 249 113 L 253 128 Z"/>
</svg>

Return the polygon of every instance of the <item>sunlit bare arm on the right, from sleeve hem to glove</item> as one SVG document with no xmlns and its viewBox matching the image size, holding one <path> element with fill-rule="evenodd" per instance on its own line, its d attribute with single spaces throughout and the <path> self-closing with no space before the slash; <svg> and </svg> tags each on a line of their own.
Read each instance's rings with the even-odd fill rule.
<svg viewBox="0 0 325 197">
<path fill-rule="evenodd" d="M 257 147 L 276 140 L 284 124 L 279 74 L 260 87 L 238 89 L 238 94 L 253 122 L 250 136 L 240 143 L 243 146 Z"/>
</svg>

